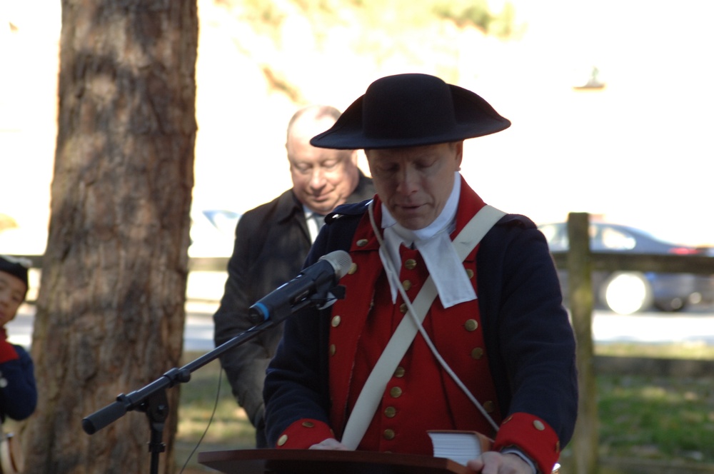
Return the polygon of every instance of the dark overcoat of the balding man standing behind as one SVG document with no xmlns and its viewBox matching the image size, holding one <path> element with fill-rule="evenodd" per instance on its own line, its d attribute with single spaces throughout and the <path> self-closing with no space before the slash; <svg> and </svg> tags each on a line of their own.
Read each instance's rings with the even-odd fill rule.
<svg viewBox="0 0 714 474">
<path fill-rule="evenodd" d="M 361 172 L 359 176 L 348 202 L 363 201 L 374 195 L 372 180 Z M 297 276 L 310 246 L 303 205 L 292 190 L 241 216 L 236 226 L 233 254 L 228 261 L 221 306 L 213 316 L 216 346 L 253 326 L 248 321 L 248 308 Z M 221 356 L 221 366 L 226 370 L 233 395 L 256 426 L 258 447 L 265 446 L 263 379 L 282 334 L 281 324 Z"/>
</svg>

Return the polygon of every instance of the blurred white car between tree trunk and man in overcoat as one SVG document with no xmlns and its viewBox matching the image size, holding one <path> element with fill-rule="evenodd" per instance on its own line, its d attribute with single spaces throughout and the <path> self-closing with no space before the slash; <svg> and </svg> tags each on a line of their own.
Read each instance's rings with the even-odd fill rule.
<svg viewBox="0 0 714 474">
<path fill-rule="evenodd" d="M 226 209 L 191 212 L 189 257 L 230 257 L 241 213 Z"/>
</svg>

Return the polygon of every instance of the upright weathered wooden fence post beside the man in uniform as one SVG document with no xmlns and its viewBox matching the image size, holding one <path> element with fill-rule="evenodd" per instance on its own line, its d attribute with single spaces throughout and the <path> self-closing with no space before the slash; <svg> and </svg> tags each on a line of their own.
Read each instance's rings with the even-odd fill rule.
<svg viewBox="0 0 714 474">
<path fill-rule="evenodd" d="M 588 213 L 568 214 L 568 299 L 578 341 L 578 421 L 573 433 L 573 474 L 594 474 L 598 468 L 598 400 L 593 351 L 593 268 Z"/>
</svg>

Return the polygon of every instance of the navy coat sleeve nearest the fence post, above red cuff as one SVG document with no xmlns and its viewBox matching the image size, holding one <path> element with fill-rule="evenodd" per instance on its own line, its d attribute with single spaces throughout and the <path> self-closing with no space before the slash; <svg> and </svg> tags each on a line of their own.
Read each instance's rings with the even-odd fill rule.
<svg viewBox="0 0 714 474">
<path fill-rule="evenodd" d="M 570 440 L 578 408 L 575 338 L 543 233 L 507 216 L 478 251 L 478 297 L 504 416 L 531 413 Z"/>
</svg>

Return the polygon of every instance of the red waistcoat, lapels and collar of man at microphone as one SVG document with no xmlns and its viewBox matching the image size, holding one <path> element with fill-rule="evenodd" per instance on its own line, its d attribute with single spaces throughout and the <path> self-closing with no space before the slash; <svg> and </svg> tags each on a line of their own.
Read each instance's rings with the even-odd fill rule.
<svg viewBox="0 0 714 474">
<path fill-rule="evenodd" d="M 462 181 L 453 238 L 484 206 Z M 376 222 L 381 205 L 374 203 Z M 353 267 L 341 279 L 346 298 L 333 306 L 329 345 L 331 426 L 341 439 L 351 409 L 383 348 L 405 311 L 401 296 L 391 301 L 391 291 L 378 255 L 378 242 L 366 214 L 351 244 Z M 476 249 L 464 260 L 464 271 L 476 282 Z M 401 248 L 400 281 L 413 301 L 428 277 L 418 251 Z M 441 356 L 458 378 L 483 404 L 497 424 L 501 423 L 496 390 L 488 367 L 488 354 L 478 301 L 444 309 L 438 296 L 423 323 Z M 395 453 L 431 454 L 426 430 L 478 430 L 493 437 L 493 428 L 478 408 L 438 365 L 417 334 L 411 347 L 388 381 L 381 404 L 358 449 Z"/>
</svg>

